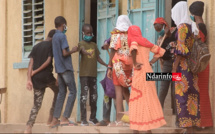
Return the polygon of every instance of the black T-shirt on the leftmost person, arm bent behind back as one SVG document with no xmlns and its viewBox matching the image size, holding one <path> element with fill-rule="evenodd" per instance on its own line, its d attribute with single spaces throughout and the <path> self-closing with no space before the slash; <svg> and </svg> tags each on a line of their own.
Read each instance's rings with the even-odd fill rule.
<svg viewBox="0 0 215 134">
<path fill-rule="evenodd" d="M 42 41 L 33 47 L 29 58 L 33 58 L 33 70 L 38 69 L 48 57 L 53 57 L 52 54 L 52 43 L 50 41 Z M 34 89 L 42 89 L 47 87 L 51 82 L 55 81 L 55 78 L 52 74 L 53 66 L 51 63 L 43 70 L 38 72 L 32 77 L 32 83 Z"/>
</svg>

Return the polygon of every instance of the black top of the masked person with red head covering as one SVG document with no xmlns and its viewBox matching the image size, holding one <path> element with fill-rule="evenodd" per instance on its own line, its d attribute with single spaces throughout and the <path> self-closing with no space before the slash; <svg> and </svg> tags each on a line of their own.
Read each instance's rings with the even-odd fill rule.
<svg viewBox="0 0 215 134">
<path fill-rule="evenodd" d="M 175 34 L 177 33 L 177 29 L 175 29 L 175 31 L 171 34 L 170 37 L 166 38 L 163 42 L 163 45 L 161 46 L 163 49 L 166 50 L 166 52 L 164 53 L 163 57 L 161 57 L 163 60 L 171 60 L 172 59 L 172 54 L 170 53 L 169 49 L 166 49 L 167 46 L 169 45 L 170 42 L 172 41 L 176 41 L 176 37 Z"/>
</svg>

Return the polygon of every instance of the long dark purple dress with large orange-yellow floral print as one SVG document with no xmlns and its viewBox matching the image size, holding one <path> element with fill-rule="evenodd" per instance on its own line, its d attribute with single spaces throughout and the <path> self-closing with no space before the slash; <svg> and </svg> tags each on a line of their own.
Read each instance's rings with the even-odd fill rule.
<svg viewBox="0 0 215 134">
<path fill-rule="evenodd" d="M 177 68 L 177 72 L 182 73 L 182 80 L 175 82 L 179 127 L 200 126 L 198 76 L 189 70 L 187 64 L 187 56 L 194 42 L 191 25 L 180 24 L 177 38 L 175 54 L 182 56 Z"/>
</svg>

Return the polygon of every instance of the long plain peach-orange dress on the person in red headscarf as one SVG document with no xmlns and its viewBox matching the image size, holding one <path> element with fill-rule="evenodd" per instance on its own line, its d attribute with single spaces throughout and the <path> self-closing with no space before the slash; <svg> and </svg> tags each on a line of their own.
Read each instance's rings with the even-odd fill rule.
<svg viewBox="0 0 215 134">
<path fill-rule="evenodd" d="M 149 42 L 148 42 L 149 43 Z M 130 52 L 137 50 L 136 60 L 142 63 L 140 70 L 134 69 L 129 100 L 130 128 L 147 131 L 166 124 L 160 101 L 157 96 L 155 81 L 146 81 L 146 73 L 153 72 L 149 64 L 150 51 L 155 57 L 163 56 L 165 50 L 156 45 L 144 47 L 136 42 L 131 43 Z"/>
</svg>

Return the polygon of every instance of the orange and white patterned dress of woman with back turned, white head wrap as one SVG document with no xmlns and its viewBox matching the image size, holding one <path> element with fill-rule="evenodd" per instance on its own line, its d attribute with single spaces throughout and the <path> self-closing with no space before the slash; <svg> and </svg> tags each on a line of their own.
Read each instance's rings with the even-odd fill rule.
<svg viewBox="0 0 215 134">
<path fill-rule="evenodd" d="M 111 32 L 110 48 L 116 50 L 112 59 L 113 83 L 115 86 L 130 87 L 133 61 L 129 55 L 128 34 L 114 30 Z"/>
</svg>

